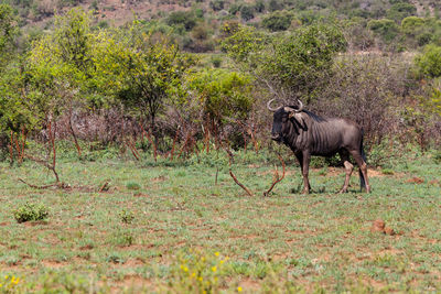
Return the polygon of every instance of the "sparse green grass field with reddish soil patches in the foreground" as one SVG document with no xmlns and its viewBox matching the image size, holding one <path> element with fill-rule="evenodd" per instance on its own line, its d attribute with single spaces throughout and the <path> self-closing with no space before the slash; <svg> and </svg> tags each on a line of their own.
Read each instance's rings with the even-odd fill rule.
<svg viewBox="0 0 441 294">
<path fill-rule="evenodd" d="M 266 198 L 273 166 L 251 154 L 237 155 L 233 170 L 255 197 L 216 154 L 200 164 L 62 159 L 71 189 L 31 188 L 18 178 L 52 175 L 32 162 L 1 163 L 0 293 L 441 288 L 441 173 L 430 153 L 370 170 L 372 194 L 358 192 L 357 173 L 349 193 L 335 194 L 343 168 L 320 167 L 314 193 L 300 195 L 289 164 Z M 46 220 L 18 224 L 13 211 L 25 203 L 43 204 Z M 376 219 L 397 233 L 372 232 Z"/>
</svg>

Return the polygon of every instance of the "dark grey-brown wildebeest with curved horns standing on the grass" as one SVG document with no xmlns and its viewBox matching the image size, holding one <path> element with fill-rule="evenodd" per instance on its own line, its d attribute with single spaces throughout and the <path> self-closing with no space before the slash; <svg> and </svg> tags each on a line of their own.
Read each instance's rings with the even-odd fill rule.
<svg viewBox="0 0 441 294">
<path fill-rule="evenodd" d="M 363 130 L 348 119 L 322 118 L 298 106 L 282 105 L 271 108 L 276 99 L 268 101 L 267 107 L 275 112 L 271 139 L 289 146 L 295 154 L 303 175 L 303 193 L 311 189 L 308 179 L 311 155 L 332 156 L 340 154 L 346 170 L 346 178 L 340 193 L 347 192 L 354 166 L 349 162 L 352 155 L 359 167 L 361 188 L 370 193 L 367 179 L 366 156 L 363 151 Z"/>
</svg>

